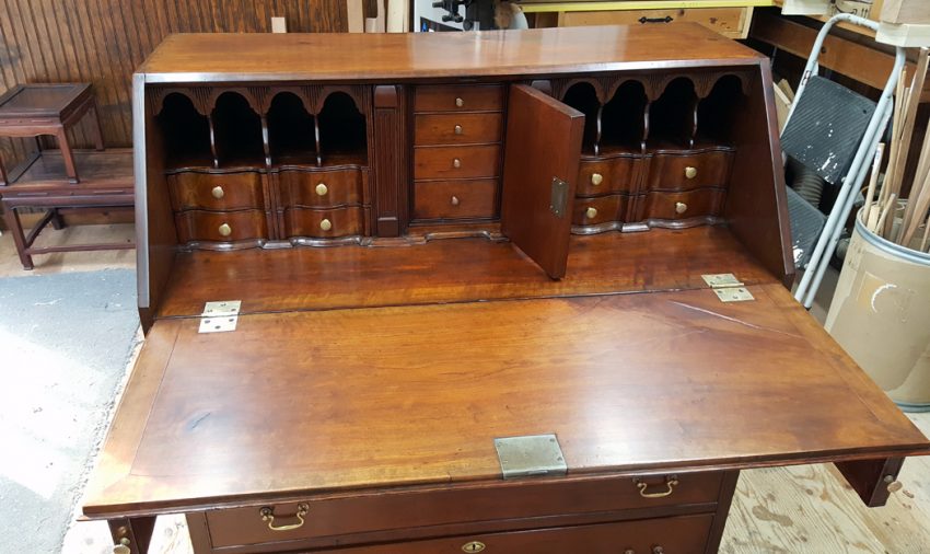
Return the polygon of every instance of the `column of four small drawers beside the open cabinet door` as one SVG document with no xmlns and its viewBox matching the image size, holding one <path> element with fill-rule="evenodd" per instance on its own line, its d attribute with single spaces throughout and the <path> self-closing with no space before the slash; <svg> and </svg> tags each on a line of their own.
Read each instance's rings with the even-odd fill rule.
<svg viewBox="0 0 930 554">
<path fill-rule="evenodd" d="M 503 86 L 425 85 L 414 101 L 414 221 L 498 211 Z"/>
</svg>

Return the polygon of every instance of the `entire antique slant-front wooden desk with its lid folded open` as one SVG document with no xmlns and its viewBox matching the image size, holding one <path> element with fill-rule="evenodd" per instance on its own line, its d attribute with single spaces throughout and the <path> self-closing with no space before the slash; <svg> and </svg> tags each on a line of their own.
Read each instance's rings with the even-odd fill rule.
<svg viewBox="0 0 930 554">
<path fill-rule="evenodd" d="M 671 554 L 742 469 L 883 504 L 930 443 L 784 288 L 770 85 L 697 25 L 167 38 L 84 515 L 115 552 L 186 513 L 198 553 Z"/>
</svg>

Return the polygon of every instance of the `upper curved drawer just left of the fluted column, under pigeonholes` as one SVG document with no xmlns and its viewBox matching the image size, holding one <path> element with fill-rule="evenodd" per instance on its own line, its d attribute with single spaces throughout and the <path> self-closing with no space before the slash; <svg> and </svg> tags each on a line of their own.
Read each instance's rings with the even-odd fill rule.
<svg viewBox="0 0 930 554">
<path fill-rule="evenodd" d="M 278 173 L 284 207 L 336 207 L 363 204 L 363 180 L 359 169 L 333 171 L 284 170 Z"/>
</svg>

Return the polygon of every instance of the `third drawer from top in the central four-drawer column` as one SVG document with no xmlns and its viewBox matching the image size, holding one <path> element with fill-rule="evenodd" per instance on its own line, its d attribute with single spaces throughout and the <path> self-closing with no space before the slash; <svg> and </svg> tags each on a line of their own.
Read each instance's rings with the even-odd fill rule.
<svg viewBox="0 0 930 554">
<path fill-rule="evenodd" d="M 500 147 L 418 147 L 414 149 L 414 178 L 496 177 Z"/>
</svg>

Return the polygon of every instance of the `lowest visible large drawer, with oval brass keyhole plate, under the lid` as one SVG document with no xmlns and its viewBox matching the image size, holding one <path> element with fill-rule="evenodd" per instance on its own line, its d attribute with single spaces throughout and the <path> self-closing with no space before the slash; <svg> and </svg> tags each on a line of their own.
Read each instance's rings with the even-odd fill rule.
<svg viewBox="0 0 930 554">
<path fill-rule="evenodd" d="M 462 552 L 527 554 L 701 553 L 710 536 L 713 515 L 620 521 L 458 535 L 428 541 L 339 549 L 344 554 L 458 554 Z"/>
</svg>

